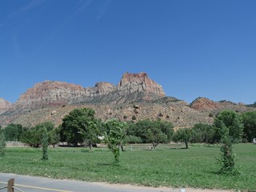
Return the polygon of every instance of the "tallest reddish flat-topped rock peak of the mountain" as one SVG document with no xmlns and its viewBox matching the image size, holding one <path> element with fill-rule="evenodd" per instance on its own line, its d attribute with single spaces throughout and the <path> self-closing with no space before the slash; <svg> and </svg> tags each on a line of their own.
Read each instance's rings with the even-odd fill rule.
<svg viewBox="0 0 256 192">
<path fill-rule="evenodd" d="M 166 93 L 158 83 L 148 78 L 147 74 L 123 74 L 121 81 L 118 83 L 120 95 L 131 94 L 134 92 L 145 92 L 146 94 L 156 94 L 158 98 L 166 96 Z"/>
</svg>

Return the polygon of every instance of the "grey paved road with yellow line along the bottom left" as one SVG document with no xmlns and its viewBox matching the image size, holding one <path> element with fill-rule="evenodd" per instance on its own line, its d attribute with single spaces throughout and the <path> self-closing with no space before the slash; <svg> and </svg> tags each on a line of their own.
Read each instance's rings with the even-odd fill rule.
<svg viewBox="0 0 256 192">
<path fill-rule="evenodd" d="M 6 182 L 14 178 L 14 186 L 24 192 L 179 192 L 178 189 L 153 188 L 129 185 L 110 185 L 98 182 L 79 182 L 74 180 L 59 180 L 52 178 L 30 177 L 18 174 L 0 173 L 0 189 Z M 15 192 L 18 190 L 14 190 Z M 6 190 L 0 190 L 6 192 Z"/>
</svg>

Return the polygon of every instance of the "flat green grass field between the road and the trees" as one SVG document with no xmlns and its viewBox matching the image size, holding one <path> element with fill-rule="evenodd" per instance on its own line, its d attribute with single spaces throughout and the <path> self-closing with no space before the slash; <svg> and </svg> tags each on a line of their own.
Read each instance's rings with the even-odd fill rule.
<svg viewBox="0 0 256 192">
<path fill-rule="evenodd" d="M 162 145 L 150 151 L 146 146 L 132 146 L 132 150 L 126 146 L 120 166 L 112 165 L 114 155 L 106 148 L 92 153 L 86 148 L 49 149 L 50 159 L 44 162 L 40 149 L 12 147 L 0 158 L 0 172 L 144 186 L 256 190 L 256 145 L 234 145 L 236 165 L 241 166 L 238 175 L 217 174 L 219 146 L 173 147 Z"/>
</svg>

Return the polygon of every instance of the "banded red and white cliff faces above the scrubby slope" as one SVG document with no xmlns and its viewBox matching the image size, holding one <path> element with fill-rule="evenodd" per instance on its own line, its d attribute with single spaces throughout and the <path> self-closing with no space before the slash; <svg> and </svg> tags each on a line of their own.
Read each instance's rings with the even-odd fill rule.
<svg viewBox="0 0 256 192">
<path fill-rule="evenodd" d="M 83 88 L 66 82 L 39 82 L 20 96 L 14 103 L 14 109 L 31 110 L 81 103 L 154 101 L 164 96 L 166 94 L 162 86 L 148 78 L 146 73 L 126 73 L 118 86 L 108 82 L 97 82 L 94 87 Z"/>
</svg>

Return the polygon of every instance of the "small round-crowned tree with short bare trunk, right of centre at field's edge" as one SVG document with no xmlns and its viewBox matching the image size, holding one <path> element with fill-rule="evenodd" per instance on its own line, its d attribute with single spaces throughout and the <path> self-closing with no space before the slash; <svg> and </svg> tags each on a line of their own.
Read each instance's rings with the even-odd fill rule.
<svg viewBox="0 0 256 192">
<path fill-rule="evenodd" d="M 189 148 L 188 142 L 192 140 L 192 130 L 187 128 L 180 128 L 174 133 L 174 142 L 185 142 L 186 149 Z"/>
</svg>

